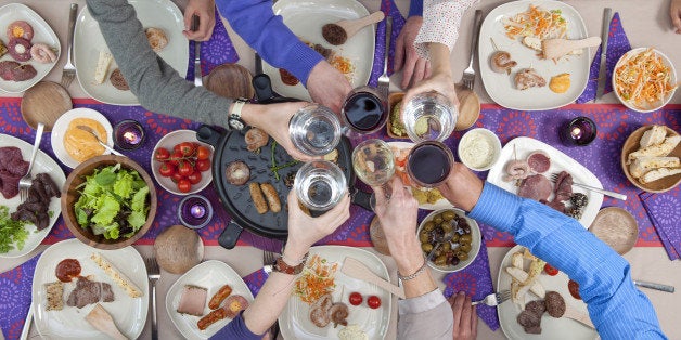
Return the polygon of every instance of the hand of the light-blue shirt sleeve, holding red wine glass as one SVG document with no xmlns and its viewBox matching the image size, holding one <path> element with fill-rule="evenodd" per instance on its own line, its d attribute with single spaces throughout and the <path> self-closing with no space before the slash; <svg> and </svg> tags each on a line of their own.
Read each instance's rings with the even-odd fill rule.
<svg viewBox="0 0 681 340">
<path fill-rule="evenodd" d="M 445 182 L 437 188 L 454 207 L 471 211 L 483 194 L 483 181 L 464 165 L 455 162 Z"/>
</svg>

